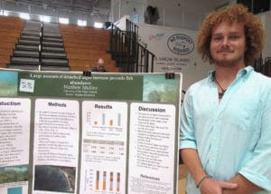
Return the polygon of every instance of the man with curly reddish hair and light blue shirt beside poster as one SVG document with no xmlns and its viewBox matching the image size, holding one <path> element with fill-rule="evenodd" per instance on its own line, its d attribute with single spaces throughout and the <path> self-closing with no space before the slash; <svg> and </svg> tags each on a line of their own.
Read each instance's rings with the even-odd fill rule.
<svg viewBox="0 0 271 194">
<path fill-rule="evenodd" d="M 271 193 L 271 79 L 249 66 L 263 37 L 243 5 L 213 12 L 202 25 L 198 50 L 214 71 L 182 104 L 187 194 Z"/>
</svg>

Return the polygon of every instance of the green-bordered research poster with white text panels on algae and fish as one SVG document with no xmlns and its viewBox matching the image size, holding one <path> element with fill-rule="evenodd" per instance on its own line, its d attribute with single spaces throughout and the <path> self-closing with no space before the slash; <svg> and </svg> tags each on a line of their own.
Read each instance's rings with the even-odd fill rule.
<svg viewBox="0 0 271 194">
<path fill-rule="evenodd" d="M 1 194 L 177 194 L 182 73 L 0 70 Z"/>
</svg>

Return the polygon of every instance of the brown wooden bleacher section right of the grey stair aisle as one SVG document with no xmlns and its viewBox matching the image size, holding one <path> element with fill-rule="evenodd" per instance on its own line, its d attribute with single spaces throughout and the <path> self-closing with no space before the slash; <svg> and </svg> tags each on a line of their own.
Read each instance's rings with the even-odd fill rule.
<svg viewBox="0 0 271 194">
<path fill-rule="evenodd" d="M 109 31 L 74 24 L 60 24 L 60 30 L 71 71 L 88 71 L 96 66 L 98 58 L 103 58 L 108 72 L 121 72 L 107 53 Z"/>
</svg>

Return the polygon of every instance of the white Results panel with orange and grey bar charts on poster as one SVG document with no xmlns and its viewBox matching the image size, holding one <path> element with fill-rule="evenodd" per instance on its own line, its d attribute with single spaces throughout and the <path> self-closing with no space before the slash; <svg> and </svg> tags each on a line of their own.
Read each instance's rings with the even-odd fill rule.
<svg viewBox="0 0 271 194">
<path fill-rule="evenodd" d="M 126 102 L 82 102 L 80 193 L 126 193 Z"/>
</svg>

